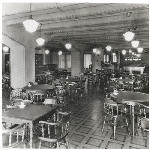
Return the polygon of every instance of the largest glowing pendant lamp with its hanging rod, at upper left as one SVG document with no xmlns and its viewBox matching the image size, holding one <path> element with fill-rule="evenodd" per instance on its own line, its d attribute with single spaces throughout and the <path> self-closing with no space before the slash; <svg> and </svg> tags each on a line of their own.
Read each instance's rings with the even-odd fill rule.
<svg viewBox="0 0 150 150">
<path fill-rule="evenodd" d="M 23 25 L 24 25 L 25 29 L 30 33 L 35 32 L 37 27 L 39 26 L 39 23 L 37 21 L 33 20 L 33 18 L 32 18 L 31 3 L 30 3 L 30 16 L 29 16 L 29 19 L 24 21 Z"/>
</svg>

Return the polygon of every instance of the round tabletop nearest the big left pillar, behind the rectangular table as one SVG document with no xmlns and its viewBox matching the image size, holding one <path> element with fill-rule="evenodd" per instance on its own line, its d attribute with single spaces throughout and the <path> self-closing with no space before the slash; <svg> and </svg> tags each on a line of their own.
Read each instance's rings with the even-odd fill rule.
<svg viewBox="0 0 150 150">
<path fill-rule="evenodd" d="M 32 86 L 25 86 L 23 89 L 24 90 L 47 90 L 47 89 L 54 89 L 54 85 L 49 85 L 49 84 L 37 84 L 37 85 L 32 85 Z"/>
</svg>

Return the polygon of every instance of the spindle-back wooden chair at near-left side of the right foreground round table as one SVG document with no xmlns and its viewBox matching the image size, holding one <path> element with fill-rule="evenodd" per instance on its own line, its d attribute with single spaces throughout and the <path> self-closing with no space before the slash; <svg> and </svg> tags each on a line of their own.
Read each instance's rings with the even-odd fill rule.
<svg viewBox="0 0 150 150">
<path fill-rule="evenodd" d="M 125 125 L 127 127 L 127 131 L 129 132 L 128 129 L 128 119 L 126 117 L 126 107 L 123 104 L 117 104 L 113 100 L 110 100 L 108 98 L 105 98 L 104 102 L 104 122 L 103 122 L 103 127 L 102 127 L 102 132 L 104 131 L 105 124 L 110 124 L 113 126 L 113 138 L 116 138 L 116 127 L 117 126 L 123 126 L 119 125 L 117 123 L 117 118 L 121 117 L 125 121 Z M 107 117 L 110 117 L 110 120 L 107 121 Z"/>
</svg>

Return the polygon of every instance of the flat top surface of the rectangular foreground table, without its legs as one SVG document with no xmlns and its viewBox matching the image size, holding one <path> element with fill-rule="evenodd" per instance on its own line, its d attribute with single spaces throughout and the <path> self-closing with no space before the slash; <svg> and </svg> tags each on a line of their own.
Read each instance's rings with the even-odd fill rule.
<svg viewBox="0 0 150 150">
<path fill-rule="evenodd" d="M 16 119 L 26 119 L 29 121 L 34 121 L 35 119 L 53 111 L 55 107 L 45 106 L 45 105 L 27 105 L 25 108 L 15 108 L 9 111 L 3 112 L 2 117 L 12 117 Z"/>
</svg>

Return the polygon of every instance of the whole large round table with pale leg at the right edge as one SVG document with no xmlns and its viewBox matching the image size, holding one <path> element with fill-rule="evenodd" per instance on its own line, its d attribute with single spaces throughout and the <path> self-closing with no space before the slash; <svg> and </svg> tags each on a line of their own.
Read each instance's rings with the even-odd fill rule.
<svg viewBox="0 0 150 150">
<path fill-rule="evenodd" d="M 118 95 L 114 95 L 113 93 L 111 93 L 110 96 L 111 99 L 117 103 L 127 103 L 131 106 L 132 135 L 134 136 L 134 106 L 137 105 L 137 103 L 141 102 L 149 103 L 149 94 L 131 91 L 118 91 Z"/>
</svg>

